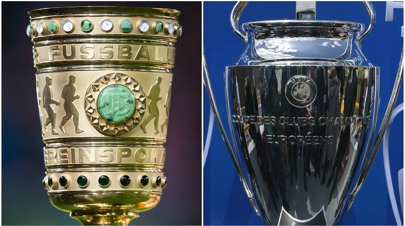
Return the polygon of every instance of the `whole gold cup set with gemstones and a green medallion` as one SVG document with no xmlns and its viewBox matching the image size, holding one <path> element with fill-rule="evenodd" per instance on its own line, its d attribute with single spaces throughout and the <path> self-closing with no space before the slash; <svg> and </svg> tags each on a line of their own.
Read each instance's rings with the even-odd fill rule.
<svg viewBox="0 0 405 226">
<path fill-rule="evenodd" d="M 49 199 L 83 225 L 128 225 L 166 186 L 180 12 L 86 6 L 28 14 Z"/>
</svg>

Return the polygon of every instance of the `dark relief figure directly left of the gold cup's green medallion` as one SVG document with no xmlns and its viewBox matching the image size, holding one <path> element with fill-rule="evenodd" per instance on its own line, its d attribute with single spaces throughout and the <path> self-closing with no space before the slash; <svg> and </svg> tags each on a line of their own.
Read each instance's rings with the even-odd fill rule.
<svg viewBox="0 0 405 226">
<path fill-rule="evenodd" d="M 63 126 L 65 123 L 73 116 L 73 124 L 75 124 L 75 132 L 81 133 L 84 130 L 79 128 L 79 112 L 77 112 L 76 107 L 73 105 L 75 99 L 79 99 L 79 95 L 75 96 L 76 87 L 73 85 L 76 81 L 76 77 L 73 75 L 69 76 L 68 84 L 63 86 L 62 94 L 60 95 L 65 101 L 63 102 L 63 108 L 65 109 L 66 115 L 62 117 L 59 129 L 62 133 L 65 133 Z"/>
</svg>

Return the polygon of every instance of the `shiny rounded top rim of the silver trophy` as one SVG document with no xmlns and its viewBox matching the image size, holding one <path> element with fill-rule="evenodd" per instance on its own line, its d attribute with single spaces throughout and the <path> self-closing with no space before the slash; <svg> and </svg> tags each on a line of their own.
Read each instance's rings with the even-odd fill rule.
<svg viewBox="0 0 405 226">
<path fill-rule="evenodd" d="M 335 20 L 266 20 L 252 21 L 243 23 L 243 28 L 250 29 L 277 29 L 277 28 L 292 28 L 292 27 L 325 27 L 325 28 L 341 28 L 350 30 L 361 30 L 364 25 L 362 23 L 352 21 L 335 21 Z"/>
</svg>

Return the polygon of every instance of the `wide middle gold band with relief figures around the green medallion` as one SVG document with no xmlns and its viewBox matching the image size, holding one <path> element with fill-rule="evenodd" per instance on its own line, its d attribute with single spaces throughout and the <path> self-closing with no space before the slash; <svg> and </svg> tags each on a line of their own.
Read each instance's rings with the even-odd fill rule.
<svg viewBox="0 0 405 226">
<path fill-rule="evenodd" d="M 94 81 L 98 78 L 115 72 L 87 70 L 37 74 L 38 107 L 44 141 L 58 139 L 63 142 L 63 139 L 72 141 L 73 138 L 86 137 L 99 139 L 110 138 L 111 135 L 117 138 L 127 137 L 134 142 L 136 139 L 166 140 L 172 74 L 125 71 L 125 74 L 136 80 L 145 92 L 146 108 L 141 121 L 136 124 L 137 129 L 127 129 L 129 131 L 119 135 L 113 133 L 104 135 L 100 131 L 105 129 L 104 124 L 98 123 L 99 118 L 94 116 L 88 118 L 88 114 L 93 112 L 89 112 L 91 110 L 88 106 L 85 108 L 86 103 L 92 98 L 94 99 L 92 101 L 95 101 L 96 97 L 93 96 L 94 93 L 92 96 L 86 95 L 87 91 L 93 90 Z M 70 82 L 72 76 L 75 77 L 73 83 Z M 124 83 L 125 79 L 120 78 Z M 131 85 L 132 89 L 137 88 L 134 84 Z M 113 125 L 107 126 L 107 129 L 115 131 Z M 118 129 L 125 131 L 126 127 Z"/>
</svg>

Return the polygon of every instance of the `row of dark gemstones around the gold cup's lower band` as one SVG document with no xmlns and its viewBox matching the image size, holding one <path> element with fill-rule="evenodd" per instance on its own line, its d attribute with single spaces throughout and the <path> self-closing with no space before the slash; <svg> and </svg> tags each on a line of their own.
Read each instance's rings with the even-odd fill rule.
<svg viewBox="0 0 405 226">
<path fill-rule="evenodd" d="M 47 185 L 49 186 L 49 188 L 55 188 L 56 183 L 53 182 L 52 177 L 48 177 L 48 184 L 46 184 L 45 179 L 42 179 L 42 183 L 44 185 L 44 188 L 47 189 Z M 131 177 L 129 177 L 128 175 L 122 175 L 121 178 L 119 179 L 119 184 L 122 187 L 127 187 L 129 184 L 131 183 Z M 68 188 L 69 187 L 69 179 L 66 176 L 60 176 L 59 177 L 59 184 L 60 186 L 64 187 L 64 188 Z M 86 188 L 89 185 L 89 180 L 87 179 L 86 176 L 84 175 L 80 175 L 79 177 L 77 177 L 77 184 L 79 185 L 79 187 L 81 188 Z M 139 178 L 139 184 L 142 187 L 145 187 L 149 184 L 149 177 L 147 175 L 143 175 Z M 110 178 L 107 175 L 102 175 L 98 178 L 98 185 L 100 185 L 100 187 L 107 187 L 110 185 Z M 156 177 L 155 181 L 153 182 L 152 186 L 153 187 L 159 187 L 160 185 L 162 185 L 162 188 L 164 188 L 166 186 L 166 177 L 164 177 L 164 182 L 162 183 L 162 179 L 160 178 L 160 176 Z"/>
</svg>

